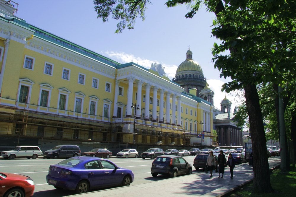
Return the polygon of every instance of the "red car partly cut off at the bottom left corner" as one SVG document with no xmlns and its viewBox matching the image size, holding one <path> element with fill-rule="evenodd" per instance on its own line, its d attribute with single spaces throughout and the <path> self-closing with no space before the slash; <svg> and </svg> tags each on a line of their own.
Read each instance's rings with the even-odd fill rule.
<svg viewBox="0 0 296 197">
<path fill-rule="evenodd" d="M 34 181 L 24 175 L 0 172 L 0 196 L 33 196 Z"/>
</svg>

